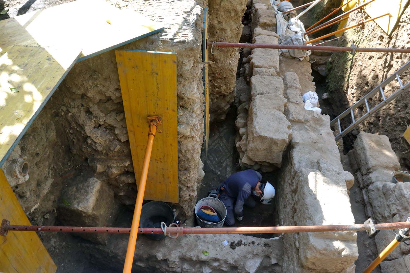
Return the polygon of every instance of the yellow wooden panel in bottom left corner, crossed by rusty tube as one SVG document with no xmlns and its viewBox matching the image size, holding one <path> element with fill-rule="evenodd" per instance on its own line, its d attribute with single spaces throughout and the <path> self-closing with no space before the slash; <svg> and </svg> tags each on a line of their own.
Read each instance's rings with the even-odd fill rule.
<svg viewBox="0 0 410 273">
<path fill-rule="evenodd" d="M 31 225 L 0 169 L 1 219 L 11 224 Z M 54 273 L 56 270 L 57 266 L 36 232 L 9 231 L 7 236 L 0 236 L 0 272 Z"/>
</svg>

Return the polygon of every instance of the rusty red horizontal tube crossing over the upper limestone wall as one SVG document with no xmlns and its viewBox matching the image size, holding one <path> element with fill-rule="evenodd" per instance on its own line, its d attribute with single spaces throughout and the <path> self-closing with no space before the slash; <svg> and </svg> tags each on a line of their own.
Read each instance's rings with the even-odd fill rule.
<svg viewBox="0 0 410 273">
<path fill-rule="evenodd" d="M 248 44 L 248 43 L 226 43 L 226 42 L 208 42 L 208 46 L 241 47 L 241 48 L 301 49 L 301 50 L 317 50 L 317 51 L 410 53 L 410 48 L 338 47 L 338 46 L 316 46 L 316 45 L 278 45 L 278 44 Z"/>
</svg>

